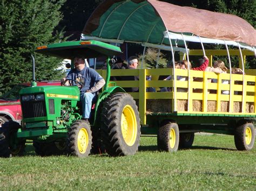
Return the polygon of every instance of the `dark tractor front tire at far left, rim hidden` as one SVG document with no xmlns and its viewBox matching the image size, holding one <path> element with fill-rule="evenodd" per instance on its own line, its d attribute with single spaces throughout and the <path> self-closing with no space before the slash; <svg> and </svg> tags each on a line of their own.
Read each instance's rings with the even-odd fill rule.
<svg viewBox="0 0 256 191">
<path fill-rule="evenodd" d="M 17 139 L 16 133 L 21 128 L 17 122 L 9 121 L 0 130 L 0 157 L 22 156 L 25 151 L 25 141 Z"/>
</svg>

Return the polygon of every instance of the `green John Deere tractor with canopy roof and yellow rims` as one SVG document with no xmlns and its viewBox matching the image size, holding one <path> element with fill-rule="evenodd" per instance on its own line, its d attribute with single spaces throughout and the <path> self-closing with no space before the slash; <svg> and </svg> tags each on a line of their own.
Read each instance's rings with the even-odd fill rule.
<svg viewBox="0 0 256 191">
<path fill-rule="evenodd" d="M 9 122 L 0 128 L 0 156 L 22 155 L 25 143 L 31 140 L 35 152 L 41 156 L 68 154 L 86 157 L 98 153 L 100 148 L 113 156 L 136 153 L 140 139 L 136 103 L 124 89 L 109 82 L 111 58 L 122 53 L 120 48 L 90 40 L 41 46 L 36 52 L 71 60 L 77 55 L 85 58 L 106 56 L 104 90 L 97 97 L 88 123 L 82 120 L 79 88 L 37 86 L 33 61 L 31 87 L 20 91 L 22 123 Z"/>
</svg>

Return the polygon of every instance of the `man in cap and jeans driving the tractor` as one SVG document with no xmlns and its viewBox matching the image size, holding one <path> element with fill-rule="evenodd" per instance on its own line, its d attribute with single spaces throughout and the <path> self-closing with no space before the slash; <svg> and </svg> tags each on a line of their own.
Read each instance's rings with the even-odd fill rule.
<svg viewBox="0 0 256 191">
<path fill-rule="evenodd" d="M 83 119 L 88 121 L 91 114 L 92 100 L 96 96 L 96 92 L 105 84 L 105 80 L 94 69 L 85 67 L 85 58 L 75 57 L 75 68 L 71 69 L 66 77 L 62 79 L 64 84 L 67 79 L 76 80 L 71 81 L 73 86 L 80 87 L 80 100 L 83 105 Z M 66 83 L 65 83 L 66 85 Z"/>
</svg>

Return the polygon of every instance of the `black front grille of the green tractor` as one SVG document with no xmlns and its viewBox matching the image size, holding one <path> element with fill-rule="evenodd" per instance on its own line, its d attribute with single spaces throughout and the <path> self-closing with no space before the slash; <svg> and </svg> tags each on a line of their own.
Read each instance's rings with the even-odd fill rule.
<svg viewBox="0 0 256 191">
<path fill-rule="evenodd" d="M 23 118 L 45 117 L 46 108 L 44 100 L 21 102 Z"/>
</svg>

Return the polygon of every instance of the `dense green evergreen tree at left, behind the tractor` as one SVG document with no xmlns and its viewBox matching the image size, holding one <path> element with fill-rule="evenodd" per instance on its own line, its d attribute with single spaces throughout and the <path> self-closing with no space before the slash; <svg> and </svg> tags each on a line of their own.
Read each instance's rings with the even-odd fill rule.
<svg viewBox="0 0 256 191">
<path fill-rule="evenodd" d="M 62 15 L 65 0 L 2 0 L 0 4 L 0 92 L 32 78 L 30 55 L 37 46 L 63 38 L 63 31 L 52 33 Z M 36 79 L 54 80 L 62 75 L 55 70 L 60 60 L 36 55 Z"/>
</svg>

